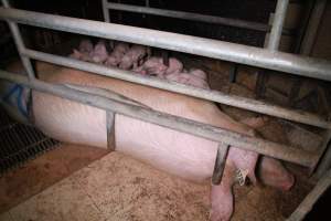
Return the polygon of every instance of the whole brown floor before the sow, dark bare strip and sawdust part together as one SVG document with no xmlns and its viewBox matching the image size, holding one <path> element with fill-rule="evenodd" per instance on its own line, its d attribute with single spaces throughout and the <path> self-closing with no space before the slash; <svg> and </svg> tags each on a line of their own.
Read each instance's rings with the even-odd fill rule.
<svg viewBox="0 0 331 221">
<path fill-rule="evenodd" d="M 311 188 L 305 171 L 296 171 L 301 173 L 289 192 L 235 187 L 233 220 L 284 220 Z M 7 221 L 207 220 L 210 209 L 207 182 L 188 182 L 119 152 L 73 145 L 9 172 L 0 191 L 0 220 Z"/>
</svg>

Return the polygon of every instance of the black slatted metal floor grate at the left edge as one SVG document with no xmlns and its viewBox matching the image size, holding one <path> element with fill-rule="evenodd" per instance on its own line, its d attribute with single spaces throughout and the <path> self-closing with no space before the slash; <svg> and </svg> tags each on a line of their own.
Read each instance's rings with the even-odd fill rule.
<svg viewBox="0 0 331 221">
<path fill-rule="evenodd" d="M 58 146 L 33 126 L 12 120 L 0 108 L 0 173 Z"/>
</svg>

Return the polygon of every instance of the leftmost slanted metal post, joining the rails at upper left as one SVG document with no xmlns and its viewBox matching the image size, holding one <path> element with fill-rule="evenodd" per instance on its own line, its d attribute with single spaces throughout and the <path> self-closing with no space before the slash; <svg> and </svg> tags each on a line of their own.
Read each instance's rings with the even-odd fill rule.
<svg viewBox="0 0 331 221">
<path fill-rule="evenodd" d="M 2 4 L 4 8 L 10 8 L 10 4 L 8 2 L 8 0 L 1 0 L 2 1 Z M 23 55 L 23 52 L 25 51 L 25 46 L 24 46 L 24 42 L 23 42 L 23 39 L 21 36 L 21 33 L 20 33 L 20 30 L 19 30 L 19 27 L 15 22 L 12 22 L 12 21 L 8 21 L 8 25 L 9 25 L 9 29 L 13 35 L 13 39 L 14 39 L 14 42 L 15 42 L 15 45 L 18 48 L 18 51 L 19 51 L 19 54 L 20 54 L 20 57 L 22 60 L 22 63 L 23 63 L 23 66 L 28 73 L 28 76 L 29 76 L 29 80 L 34 80 L 34 71 L 33 71 L 33 67 L 32 67 L 32 64 L 31 64 L 31 61 L 28 56 L 24 56 Z"/>
</svg>

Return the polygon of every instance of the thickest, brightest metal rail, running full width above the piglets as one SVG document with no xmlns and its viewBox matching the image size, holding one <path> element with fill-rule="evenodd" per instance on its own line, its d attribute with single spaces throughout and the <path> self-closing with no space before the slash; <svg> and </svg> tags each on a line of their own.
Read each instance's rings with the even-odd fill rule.
<svg viewBox="0 0 331 221">
<path fill-rule="evenodd" d="M 157 30 L 0 8 L 0 19 L 331 81 L 331 62 Z"/>
</svg>

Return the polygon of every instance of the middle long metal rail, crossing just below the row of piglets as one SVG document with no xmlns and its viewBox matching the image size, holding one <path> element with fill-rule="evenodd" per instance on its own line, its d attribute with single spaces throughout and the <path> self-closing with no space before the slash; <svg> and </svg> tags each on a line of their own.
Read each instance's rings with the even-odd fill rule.
<svg viewBox="0 0 331 221">
<path fill-rule="evenodd" d="M 132 74 L 130 71 L 106 67 L 98 64 L 87 63 L 83 61 L 77 61 L 73 59 L 62 57 L 57 55 L 46 54 L 43 52 L 38 52 L 33 50 L 26 50 L 24 52 L 26 56 L 35 60 L 50 62 L 53 64 L 58 64 L 63 66 L 68 66 L 86 72 L 92 72 L 100 74 L 104 76 L 110 76 L 132 83 L 138 83 L 147 86 L 152 86 L 161 90 L 167 90 L 180 94 L 185 94 L 189 96 L 194 96 L 203 99 L 209 99 L 212 102 L 244 108 L 260 114 L 271 115 L 284 119 L 289 119 L 293 122 L 299 122 L 303 124 L 309 124 L 322 128 L 331 128 L 331 123 L 327 122 L 320 116 L 303 112 L 287 109 L 285 107 L 266 104 L 260 101 L 255 101 L 252 98 L 239 97 L 235 95 L 225 94 L 218 91 L 202 90 L 196 87 L 186 86 L 183 84 L 178 84 L 169 81 L 162 81 L 157 77 L 142 77 L 137 74 Z"/>
</svg>

